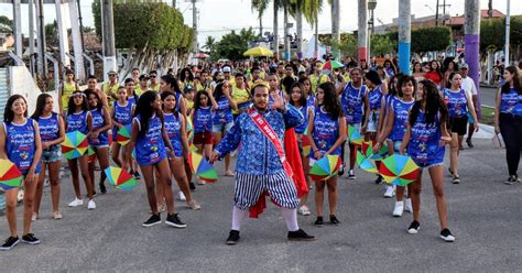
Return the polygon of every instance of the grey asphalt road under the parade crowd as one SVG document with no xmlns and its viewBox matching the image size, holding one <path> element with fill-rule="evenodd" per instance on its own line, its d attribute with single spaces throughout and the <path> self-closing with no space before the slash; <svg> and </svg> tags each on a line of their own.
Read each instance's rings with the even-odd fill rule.
<svg viewBox="0 0 522 273">
<path fill-rule="evenodd" d="M 412 220 L 391 216 L 393 200 L 382 198 L 384 187 L 374 176 L 357 172 L 356 181 L 339 182 L 337 227 L 312 223 L 314 216 L 300 216 L 300 225 L 315 234 L 314 242 L 289 242 L 280 210 L 269 205 L 260 219 L 249 219 L 240 243 L 225 244 L 231 219 L 230 178 L 198 186 L 195 198 L 200 211 L 176 201 L 188 228 L 142 228 L 149 217 L 144 186 L 132 192 L 110 189 L 98 196 L 98 208 L 68 208 L 73 187 L 63 181 L 61 208 L 64 219 L 52 219 L 48 188 L 42 219 L 33 225 L 39 245 L 19 244 L 0 252 L 2 272 L 513 272 L 522 269 L 522 185 L 507 186 L 504 151 L 490 140 L 476 140 L 476 148 L 460 155 L 463 183 L 446 179 L 449 227 L 457 240 L 443 242 L 429 179 L 425 174 L 421 230 L 407 234 Z M 222 163 L 218 163 L 222 173 Z M 177 188 L 177 187 L 176 187 Z M 83 192 L 85 194 L 85 189 Z M 311 203 L 315 211 L 315 205 Z M 21 214 L 19 208 L 19 214 Z M 163 215 L 163 218 L 165 215 Z M 21 225 L 21 220 L 19 220 Z M 21 227 L 21 226 L 20 226 Z M 0 234 L 9 234 L 6 218 Z"/>
</svg>

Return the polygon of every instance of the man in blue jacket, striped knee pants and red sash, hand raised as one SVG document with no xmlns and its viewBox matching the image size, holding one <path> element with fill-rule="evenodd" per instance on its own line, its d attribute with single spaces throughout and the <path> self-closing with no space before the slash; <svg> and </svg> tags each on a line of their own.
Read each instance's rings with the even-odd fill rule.
<svg viewBox="0 0 522 273">
<path fill-rule="evenodd" d="M 248 209 L 255 206 L 263 193 L 268 193 L 281 207 L 289 228 L 289 240 L 314 240 L 313 236 L 298 228 L 300 201 L 282 144 L 285 129 L 301 124 L 304 118 L 278 94 L 273 95 L 273 106 L 269 108 L 271 95 L 265 85 L 254 86 L 251 92 L 253 107 L 240 113 L 210 159 L 222 159 L 241 143 L 236 166 L 232 229 L 227 244 L 236 244 L 239 241 L 241 222 L 247 218 Z"/>
</svg>

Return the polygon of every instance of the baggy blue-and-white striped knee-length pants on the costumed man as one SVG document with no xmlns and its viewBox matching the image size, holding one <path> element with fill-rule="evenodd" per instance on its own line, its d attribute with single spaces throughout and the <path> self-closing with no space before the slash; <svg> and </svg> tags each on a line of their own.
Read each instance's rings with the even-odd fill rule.
<svg viewBox="0 0 522 273">
<path fill-rule="evenodd" d="M 237 173 L 233 205 L 243 210 L 248 209 L 258 203 L 264 190 L 283 208 L 300 206 L 297 189 L 285 172 L 272 175 Z"/>
</svg>

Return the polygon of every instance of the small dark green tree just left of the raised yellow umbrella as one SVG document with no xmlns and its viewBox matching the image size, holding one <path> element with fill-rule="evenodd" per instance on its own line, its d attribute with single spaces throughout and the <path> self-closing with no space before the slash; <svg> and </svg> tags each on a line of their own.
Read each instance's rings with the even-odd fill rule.
<svg viewBox="0 0 522 273">
<path fill-rule="evenodd" d="M 255 39 L 252 28 L 241 29 L 239 33 L 232 31 L 221 37 L 216 43 L 216 57 L 228 58 L 232 61 L 243 59 L 243 53 L 248 50 L 248 44 Z"/>
</svg>

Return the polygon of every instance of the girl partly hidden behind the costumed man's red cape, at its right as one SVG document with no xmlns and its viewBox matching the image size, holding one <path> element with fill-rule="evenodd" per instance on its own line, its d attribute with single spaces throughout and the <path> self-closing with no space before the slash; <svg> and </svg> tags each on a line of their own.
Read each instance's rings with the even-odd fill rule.
<svg viewBox="0 0 522 273">
<path fill-rule="evenodd" d="M 297 144 L 298 149 L 301 152 L 301 161 L 303 163 L 303 171 L 305 174 L 306 178 L 306 184 L 309 186 L 309 177 L 308 177 L 308 172 L 309 172 L 309 159 L 308 154 L 305 154 L 303 151 L 303 140 L 304 138 L 307 138 L 305 133 L 306 129 L 308 128 L 308 117 L 312 114 L 313 109 L 315 107 L 309 108 L 307 105 L 307 99 L 306 99 L 306 92 L 305 92 L 305 87 L 303 84 L 294 84 L 291 88 L 290 92 L 290 103 L 294 106 L 301 114 L 303 114 L 303 123 L 300 125 L 295 127 L 295 134 L 297 136 Z M 308 198 L 308 193 L 304 194 L 301 196 L 301 205 L 298 212 L 308 216 L 311 215 L 308 206 L 306 206 L 306 200 Z"/>
</svg>

